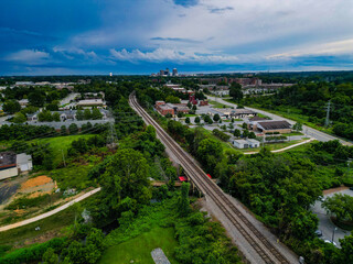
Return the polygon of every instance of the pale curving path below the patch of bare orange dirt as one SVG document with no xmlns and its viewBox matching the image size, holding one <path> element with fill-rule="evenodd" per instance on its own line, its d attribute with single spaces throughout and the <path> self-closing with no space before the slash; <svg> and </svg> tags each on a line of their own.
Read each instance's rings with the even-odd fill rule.
<svg viewBox="0 0 353 264">
<path fill-rule="evenodd" d="M 53 215 L 55 215 L 55 213 L 57 213 L 57 212 L 60 212 L 62 210 L 67 209 L 68 207 L 71 207 L 75 202 L 78 202 L 78 201 L 82 201 L 82 200 L 88 198 L 89 196 L 98 193 L 99 190 L 100 190 L 100 187 L 96 188 L 94 190 L 90 190 L 90 191 L 84 194 L 83 196 L 77 197 L 76 199 L 65 204 L 64 206 L 57 207 L 56 209 L 54 209 L 52 211 L 45 212 L 45 213 L 36 216 L 34 218 L 30 218 L 30 219 L 23 220 L 21 222 L 17 222 L 17 223 L 12 223 L 12 224 L 9 224 L 9 226 L 0 227 L 0 232 L 8 231 L 8 230 L 14 229 L 14 228 L 19 228 L 19 227 L 22 227 L 22 226 L 25 226 L 25 224 L 29 224 L 29 223 L 32 223 L 32 222 L 36 222 L 36 221 L 42 220 L 44 218 L 51 217 L 51 216 L 53 216 Z"/>
</svg>

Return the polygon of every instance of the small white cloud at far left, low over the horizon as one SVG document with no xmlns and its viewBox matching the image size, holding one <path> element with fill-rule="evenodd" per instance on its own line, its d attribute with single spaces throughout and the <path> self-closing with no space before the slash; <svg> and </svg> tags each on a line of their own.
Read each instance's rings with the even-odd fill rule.
<svg viewBox="0 0 353 264">
<path fill-rule="evenodd" d="M 28 65 L 45 64 L 51 55 L 38 50 L 22 50 L 8 55 L 4 59 L 9 62 L 23 63 Z"/>
</svg>

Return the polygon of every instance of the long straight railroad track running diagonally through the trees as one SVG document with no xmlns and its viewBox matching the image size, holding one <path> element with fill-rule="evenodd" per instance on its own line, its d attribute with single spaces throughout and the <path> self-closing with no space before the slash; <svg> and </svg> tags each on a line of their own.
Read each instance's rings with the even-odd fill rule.
<svg viewBox="0 0 353 264">
<path fill-rule="evenodd" d="M 223 190 L 207 177 L 189 153 L 175 143 L 175 141 L 145 111 L 145 109 L 140 107 L 135 95 L 130 95 L 129 101 L 132 108 L 135 108 L 145 121 L 156 128 L 159 138 L 170 148 L 170 151 L 173 152 L 199 189 L 205 196 L 208 196 L 216 206 L 218 206 L 226 218 L 257 252 L 264 263 L 289 264 L 290 262 L 278 251 L 278 249 L 275 248 L 268 239 L 257 230 L 257 228 L 234 206 Z"/>
</svg>

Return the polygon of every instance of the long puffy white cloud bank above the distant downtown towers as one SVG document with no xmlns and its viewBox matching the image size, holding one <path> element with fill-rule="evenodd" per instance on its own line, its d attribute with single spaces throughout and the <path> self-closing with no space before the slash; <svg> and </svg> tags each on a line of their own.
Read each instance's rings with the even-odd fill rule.
<svg viewBox="0 0 353 264">
<path fill-rule="evenodd" d="M 110 50 L 113 58 L 117 61 L 128 62 L 176 62 L 176 63 L 205 63 L 205 64 L 233 64 L 238 62 L 236 56 L 223 56 L 212 54 L 196 54 L 189 51 L 175 51 L 169 48 L 157 48 L 152 52 L 141 52 L 133 50 L 128 52 L 122 48 L 121 51 Z"/>
</svg>

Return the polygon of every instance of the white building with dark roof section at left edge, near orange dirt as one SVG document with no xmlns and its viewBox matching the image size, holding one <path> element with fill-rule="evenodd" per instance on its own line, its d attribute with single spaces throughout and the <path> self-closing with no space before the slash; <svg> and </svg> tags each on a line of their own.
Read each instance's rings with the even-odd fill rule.
<svg viewBox="0 0 353 264">
<path fill-rule="evenodd" d="M 33 168 L 32 156 L 25 153 L 13 152 L 0 153 L 0 180 L 18 176 L 20 173 Z"/>
</svg>

